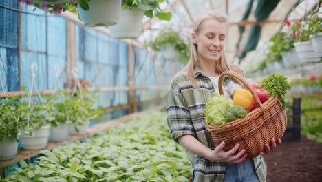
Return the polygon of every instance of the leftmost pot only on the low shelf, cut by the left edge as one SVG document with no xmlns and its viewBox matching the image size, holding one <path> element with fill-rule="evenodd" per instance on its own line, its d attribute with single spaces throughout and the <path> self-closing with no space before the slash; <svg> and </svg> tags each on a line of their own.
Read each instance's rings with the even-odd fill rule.
<svg viewBox="0 0 322 182">
<path fill-rule="evenodd" d="M 4 138 L 0 141 L 0 161 L 14 159 L 18 150 L 18 142 L 14 139 Z"/>
</svg>

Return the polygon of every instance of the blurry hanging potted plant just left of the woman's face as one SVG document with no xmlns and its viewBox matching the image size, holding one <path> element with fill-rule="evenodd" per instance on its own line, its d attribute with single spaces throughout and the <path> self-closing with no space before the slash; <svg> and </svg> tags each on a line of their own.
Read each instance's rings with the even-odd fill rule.
<svg viewBox="0 0 322 182">
<path fill-rule="evenodd" d="M 189 39 L 184 31 L 164 28 L 148 45 L 155 51 L 162 51 L 164 59 L 186 63 L 189 61 Z"/>
</svg>

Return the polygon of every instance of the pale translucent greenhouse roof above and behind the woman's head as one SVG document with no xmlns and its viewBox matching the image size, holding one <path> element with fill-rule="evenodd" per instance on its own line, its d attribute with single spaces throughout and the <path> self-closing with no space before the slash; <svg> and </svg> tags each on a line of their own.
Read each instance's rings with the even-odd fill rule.
<svg viewBox="0 0 322 182">
<path fill-rule="evenodd" d="M 254 16 L 255 9 L 259 0 L 253 2 L 253 8 L 245 23 L 241 22 L 241 17 L 248 7 L 249 0 L 166 0 L 161 4 L 161 8 L 167 12 L 172 13 L 171 21 L 160 21 L 153 17 L 149 19 L 144 17 L 142 33 L 138 37 L 140 43 L 146 43 L 147 41 L 154 39 L 159 30 L 165 26 L 186 28 L 191 30 L 193 22 L 197 17 L 208 10 L 215 10 L 228 15 L 228 41 L 226 42 L 226 58 L 230 63 L 245 62 L 253 60 L 257 50 L 263 50 L 266 43 L 282 26 L 284 21 L 300 20 L 305 17 L 305 14 L 310 14 L 314 6 L 319 3 L 319 0 L 280 0 L 277 6 L 269 14 L 269 17 L 261 23 L 263 25 L 260 34 L 259 43 L 257 49 L 253 52 L 249 52 L 242 61 L 236 60 L 236 55 L 239 54 L 248 37 L 253 36 L 250 34 L 250 29 L 253 25 L 259 24 Z M 296 6 L 295 6 L 296 5 Z M 287 18 L 287 19 L 285 19 Z M 245 32 L 241 37 L 241 43 L 239 49 L 236 48 L 237 41 L 239 39 L 239 26 L 246 26 Z"/>
</svg>

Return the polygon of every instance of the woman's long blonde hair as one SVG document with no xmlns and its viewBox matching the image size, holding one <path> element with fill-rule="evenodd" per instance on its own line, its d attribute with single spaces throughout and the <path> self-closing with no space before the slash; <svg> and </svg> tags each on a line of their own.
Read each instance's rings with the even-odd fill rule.
<svg viewBox="0 0 322 182">
<path fill-rule="evenodd" d="M 195 21 L 195 24 L 193 26 L 193 33 L 197 34 L 200 31 L 200 25 L 205 19 L 213 18 L 219 21 L 220 23 L 227 22 L 227 16 L 225 14 L 217 13 L 217 12 L 207 12 L 202 17 L 200 17 L 197 21 Z M 191 51 L 190 51 L 190 59 L 189 62 L 186 64 L 186 67 L 183 70 L 186 70 L 188 74 L 188 79 L 191 82 L 191 85 L 193 88 L 199 88 L 199 85 L 197 84 L 197 81 L 195 79 L 195 65 L 199 66 L 199 60 L 198 60 L 198 52 L 197 52 L 197 44 L 192 43 L 191 44 Z M 222 57 L 219 58 L 219 61 L 215 61 L 215 68 L 217 69 L 217 72 L 222 73 L 226 70 L 230 70 L 226 63 L 225 54 L 222 52 Z"/>
</svg>

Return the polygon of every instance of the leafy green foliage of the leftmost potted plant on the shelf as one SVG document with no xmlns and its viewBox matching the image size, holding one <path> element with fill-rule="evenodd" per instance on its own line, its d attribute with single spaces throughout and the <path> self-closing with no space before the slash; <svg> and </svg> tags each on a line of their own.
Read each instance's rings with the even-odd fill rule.
<svg viewBox="0 0 322 182">
<path fill-rule="evenodd" d="M 6 137 L 18 141 L 18 134 L 26 124 L 25 107 L 19 97 L 8 97 L 0 101 L 0 141 Z"/>
</svg>

